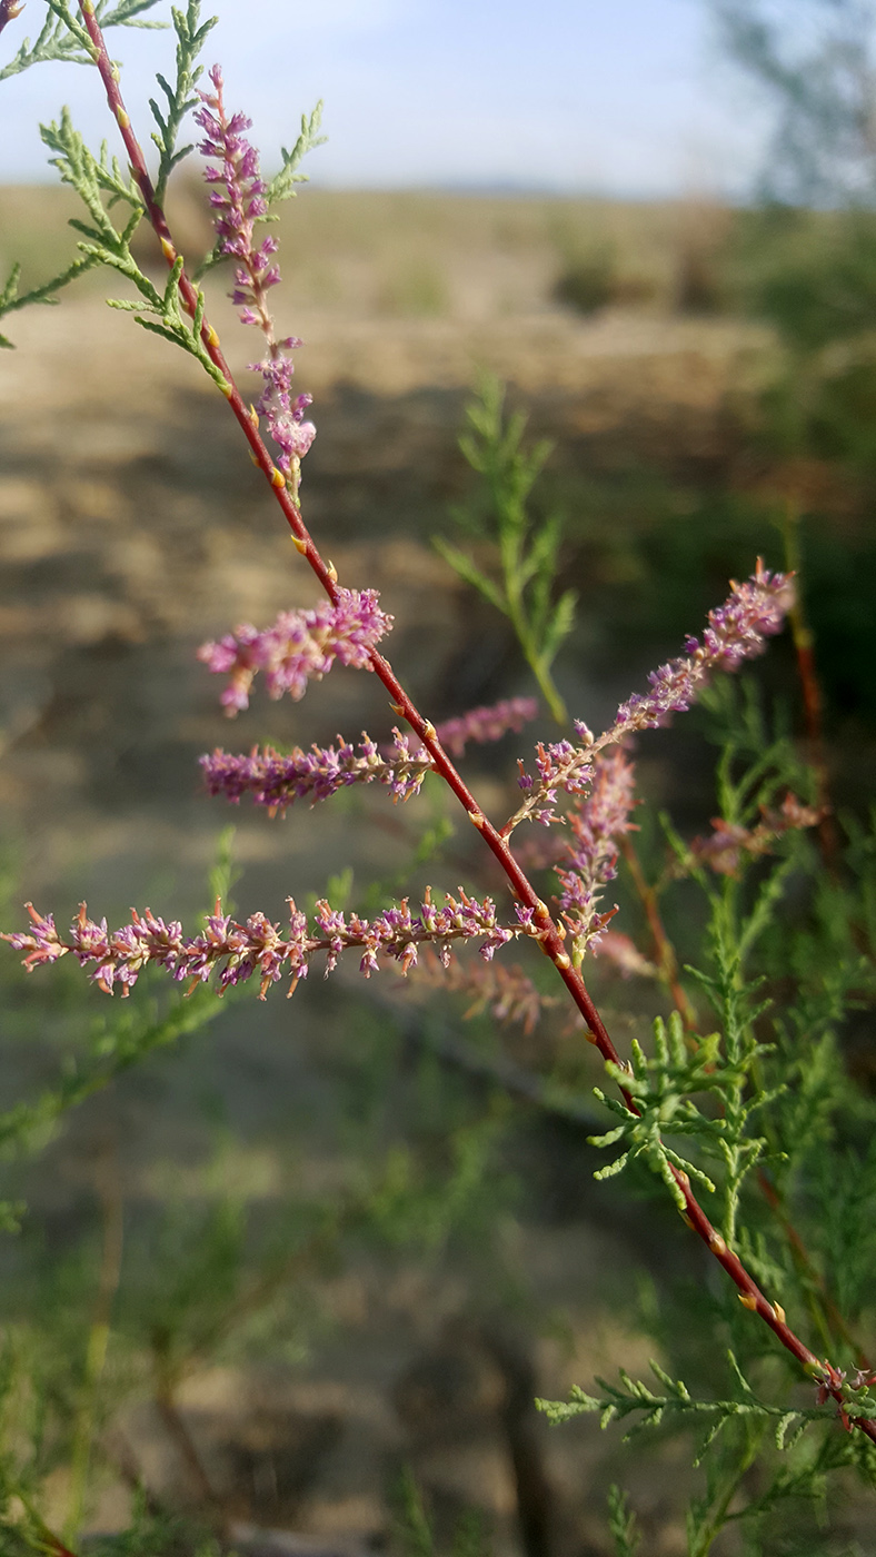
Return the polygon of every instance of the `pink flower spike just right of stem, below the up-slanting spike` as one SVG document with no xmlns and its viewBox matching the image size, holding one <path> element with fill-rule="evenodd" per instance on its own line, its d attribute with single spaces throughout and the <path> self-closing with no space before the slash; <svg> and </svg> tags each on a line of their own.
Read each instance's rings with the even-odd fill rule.
<svg viewBox="0 0 876 1557">
<path fill-rule="evenodd" d="M 618 870 L 618 839 L 633 830 L 633 764 L 615 747 L 593 764 L 590 794 L 569 811 L 574 841 L 568 844 L 569 867 L 557 866 L 560 909 L 580 954 L 605 930 L 616 909 L 599 912 L 602 889 Z"/>
</svg>

